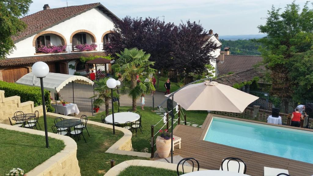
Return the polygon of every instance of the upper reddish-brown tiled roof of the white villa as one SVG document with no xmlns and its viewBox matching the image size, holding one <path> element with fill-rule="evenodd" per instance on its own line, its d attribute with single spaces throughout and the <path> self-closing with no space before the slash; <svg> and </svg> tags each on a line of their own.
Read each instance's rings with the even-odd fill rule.
<svg viewBox="0 0 313 176">
<path fill-rule="evenodd" d="M 103 13 L 107 14 L 109 17 L 112 18 L 115 17 L 119 19 L 117 16 L 115 16 L 112 12 L 110 12 L 100 3 L 69 6 L 62 8 L 49 8 L 20 18 L 27 24 L 27 28 L 18 36 L 13 36 L 12 39 L 14 40 L 14 43 L 16 43 L 26 37 L 29 37 L 33 34 L 37 34 L 38 32 L 44 31 L 47 28 L 50 28 L 61 22 L 64 22 L 69 18 L 73 18 L 76 15 L 79 15 L 96 7 L 99 7 L 99 9 L 102 10 Z"/>
</svg>

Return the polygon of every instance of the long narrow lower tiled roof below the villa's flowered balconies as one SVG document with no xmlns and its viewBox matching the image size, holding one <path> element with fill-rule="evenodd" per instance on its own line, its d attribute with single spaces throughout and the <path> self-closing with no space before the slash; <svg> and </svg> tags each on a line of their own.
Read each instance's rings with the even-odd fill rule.
<svg viewBox="0 0 313 176">
<path fill-rule="evenodd" d="M 90 57 L 90 56 L 106 56 L 104 52 L 88 52 L 79 54 L 54 54 L 47 56 L 34 56 L 34 57 L 20 57 L 20 58 L 10 58 L 6 60 L 0 60 L 0 67 L 16 66 L 16 65 L 28 65 L 33 64 L 38 61 L 43 62 L 55 62 L 63 60 L 74 60 L 80 57 Z"/>
</svg>

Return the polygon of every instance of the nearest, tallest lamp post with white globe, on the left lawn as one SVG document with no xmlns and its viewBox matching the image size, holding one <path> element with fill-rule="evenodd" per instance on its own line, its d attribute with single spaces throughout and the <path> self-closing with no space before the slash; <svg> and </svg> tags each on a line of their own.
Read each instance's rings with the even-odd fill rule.
<svg viewBox="0 0 313 176">
<path fill-rule="evenodd" d="M 49 66 L 46 63 L 41 62 L 41 61 L 36 62 L 32 66 L 32 72 L 37 78 L 40 79 L 42 108 L 43 108 L 43 112 L 44 112 L 44 132 L 45 132 L 45 136 L 46 136 L 46 147 L 49 148 L 46 103 L 44 100 L 44 80 L 43 80 L 43 78 L 49 74 Z"/>
</svg>

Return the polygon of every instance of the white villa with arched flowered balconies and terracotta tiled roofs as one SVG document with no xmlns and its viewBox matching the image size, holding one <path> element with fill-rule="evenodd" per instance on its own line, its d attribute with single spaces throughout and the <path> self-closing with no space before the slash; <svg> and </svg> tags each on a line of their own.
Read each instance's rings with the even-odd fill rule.
<svg viewBox="0 0 313 176">
<path fill-rule="evenodd" d="M 0 80 L 17 81 L 37 61 L 46 62 L 53 73 L 85 70 L 80 57 L 105 55 L 102 48 L 110 40 L 114 18 L 119 19 L 100 3 L 63 8 L 45 4 L 43 10 L 21 18 L 27 28 L 12 37 L 16 49 L 0 60 Z M 86 44 L 89 48 L 82 48 Z M 59 48 L 49 48 L 52 45 Z"/>
</svg>

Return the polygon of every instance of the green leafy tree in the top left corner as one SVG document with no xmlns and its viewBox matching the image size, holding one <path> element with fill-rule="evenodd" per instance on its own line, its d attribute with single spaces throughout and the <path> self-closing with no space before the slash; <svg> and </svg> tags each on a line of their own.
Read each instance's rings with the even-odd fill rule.
<svg viewBox="0 0 313 176">
<path fill-rule="evenodd" d="M 0 59 L 5 59 L 14 46 L 12 36 L 18 35 L 27 25 L 19 19 L 29 10 L 31 0 L 2 0 L 0 2 Z"/>
</svg>

